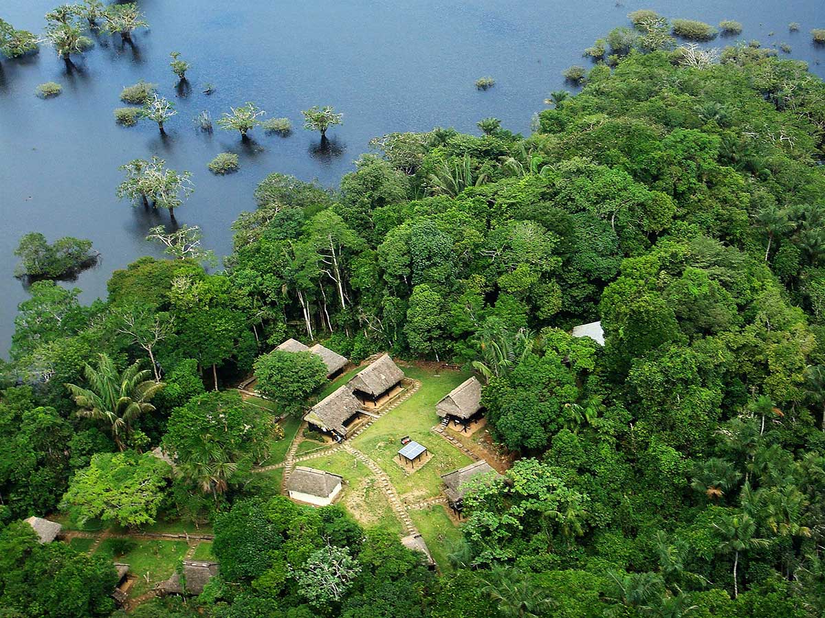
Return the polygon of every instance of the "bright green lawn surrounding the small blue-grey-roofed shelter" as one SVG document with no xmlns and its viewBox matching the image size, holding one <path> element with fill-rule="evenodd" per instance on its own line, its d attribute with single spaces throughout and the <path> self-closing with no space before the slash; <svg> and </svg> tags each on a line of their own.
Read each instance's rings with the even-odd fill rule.
<svg viewBox="0 0 825 618">
<path fill-rule="evenodd" d="M 440 421 L 436 403 L 464 382 L 468 374 L 448 369 L 431 372 L 417 367 L 404 367 L 403 372 L 422 382 L 417 393 L 376 420 L 352 441 L 352 446 L 370 456 L 389 475 L 402 498 L 415 502 L 441 492 L 441 475 L 472 463 L 463 452 L 431 432 L 431 427 Z M 403 436 L 421 443 L 433 455 L 409 475 L 394 461 Z"/>
</svg>

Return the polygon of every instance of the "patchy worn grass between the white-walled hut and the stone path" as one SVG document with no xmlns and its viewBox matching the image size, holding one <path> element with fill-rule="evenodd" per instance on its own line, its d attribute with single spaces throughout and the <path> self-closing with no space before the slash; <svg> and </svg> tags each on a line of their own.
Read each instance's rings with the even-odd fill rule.
<svg viewBox="0 0 825 618">
<path fill-rule="evenodd" d="M 355 517 L 363 527 L 381 527 L 401 534 L 403 527 L 389 506 L 387 495 L 378 485 L 375 476 L 361 461 L 346 451 L 306 461 L 304 466 L 342 475 L 347 481 L 339 503 Z"/>
</svg>

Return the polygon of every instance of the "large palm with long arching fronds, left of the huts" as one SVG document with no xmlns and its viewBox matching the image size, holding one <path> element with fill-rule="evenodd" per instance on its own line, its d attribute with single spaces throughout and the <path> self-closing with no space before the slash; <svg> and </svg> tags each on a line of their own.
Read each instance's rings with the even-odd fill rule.
<svg viewBox="0 0 825 618">
<path fill-rule="evenodd" d="M 166 385 L 149 379 L 152 372 L 141 369 L 140 361 L 119 373 L 106 354 L 99 354 L 97 368 L 87 363 L 83 375 L 89 388 L 64 385 L 80 408 L 78 416 L 105 421 L 112 439 L 123 451 L 132 431 L 132 422 L 141 414 L 154 411 L 149 400 Z"/>
</svg>

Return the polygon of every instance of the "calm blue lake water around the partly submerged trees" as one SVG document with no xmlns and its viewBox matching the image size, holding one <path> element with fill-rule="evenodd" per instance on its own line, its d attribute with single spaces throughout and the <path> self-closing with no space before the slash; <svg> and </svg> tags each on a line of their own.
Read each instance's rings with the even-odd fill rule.
<svg viewBox="0 0 825 618">
<path fill-rule="evenodd" d="M 39 32 L 56 0 L 0 0 L 0 17 L 17 28 Z M 89 238 L 102 262 L 77 282 L 83 302 L 106 294 L 113 269 L 139 255 L 158 255 L 144 236 L 167 222 L 115 199 L 117 166 L 141 157 L 163 157 L 167 165 L 192 172 L 196 191 L 177 211 L 177 221 L 199 225 L 205 246 L 219 255 L 231 247 L 229 226 L 254 208 L 252 191 L 272 171 L 337 185 L 368 141 L 392 131 L 426 131 L 434 126 L 478 132 L 475 123 L 495 116 L 507 129 L 529 131 L 550 91 L 563 87 L 560 72 L 585 64 L 582 49 L 626 14 L 653 8 L 663 15 L 716 24 L 741 21 L 742 39 L 786 42 L 791 57 L 823 75 L 825 49 L 808 31 L 825 27 L 822 0 L 141 0 L 150 30 L 134 36 L 134 47 L 99 36 L 95 48 L 65 65 L 49 48 L 31 58 L 0 61 L 0 353 L 10 344 L 17 303 L 26 290 L 14 279 L 12 252 L 26 232 Z M 799 32 L 789 33 L 797 21 Z M 771 30 L 774 36 L 769 36 Z M 719 40 L 714 42 L 720 45 Z M 188 96 L 177 96 L 169 53 L 180 51 L 192 64 Z M 477 91 L 478 77 L 496 85 Z M 177 104 L 178 115 L 161 139 L 149 124 L 115 125 L 122 87 L 139 79 Z M 42 82 L 63 85 L 49 101 L 34 95 Z M 214 85 L 207 96 L 203 85 Z M 201 110 L 214 119 L 230 105 L 254 101 L 267 117 L 286 116 L 289 138 L 253 141 L 215 128 L 206 134 L 192 122 Z M 318 135 L 302 129 L 300 110 L 334 105 L 344 124 L 330 131 L 340 152 L 318 152 Z M 219 152 L 237 152 L 241 170 L 213 176 L 206 164 Z"/>
</svg>

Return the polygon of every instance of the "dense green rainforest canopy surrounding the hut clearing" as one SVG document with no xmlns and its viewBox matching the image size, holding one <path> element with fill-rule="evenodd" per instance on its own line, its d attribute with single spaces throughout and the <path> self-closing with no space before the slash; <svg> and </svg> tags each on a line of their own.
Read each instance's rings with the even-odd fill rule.
<svg viewBox="0 0 825 618">
<path fill-rule="evenodd" d="M 94 559 L 59 599 L 17 583 L 46 559 L 70 568 L 13 522 L 62 499 L 80 517 L 214 522 L 220 576 L 197 603 L 215 618 L 821 616 L 825 87 L 761 49 L 715 63 L 661 17 L 631 20 L 601 43 L 615 68 L 554 92 L 530 137 L 495 119 L 482 136 L 385 135 L 338 191 L 266 177 L 216 274 L 144 258 L 90 307 L 33 285 L 0 400 L 3 600 L 108 609 Z M 157 194 L 148 165 L 125 166 L 137 204 Z M 568 335 L 596 320 L 603 348 Z M 479 372 L 516 461 L 465 500 L 449 574 L 340 508 L 257 494 L 271 415 L 219 388 L 254 366 L 281 405 L 308 396 L 323 363 L 271 353 L 290 336 Z M 173 480 L 139 454 L 160 444 Z M 98 503 L 147 479 L 152 500 L 122 519 Z"/>
</svg>

